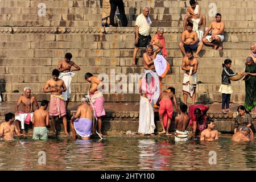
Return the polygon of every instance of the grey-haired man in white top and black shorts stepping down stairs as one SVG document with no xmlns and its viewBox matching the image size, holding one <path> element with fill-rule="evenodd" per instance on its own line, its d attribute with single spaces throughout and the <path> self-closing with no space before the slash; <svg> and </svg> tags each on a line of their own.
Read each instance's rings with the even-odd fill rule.
<svg viewBox="0 0 256 182">
<path fill-rule="evenodd" d="M 140 47 L 146 47 L 150 44 L 150 26 L 151 19 L 149 17 L 150 7 L 143 8 L 142 14 L 138 15 L 135 23 L 135 48 L 133 51 L 133 66 L 136 66 L 136 56 Z"/>
</svg>

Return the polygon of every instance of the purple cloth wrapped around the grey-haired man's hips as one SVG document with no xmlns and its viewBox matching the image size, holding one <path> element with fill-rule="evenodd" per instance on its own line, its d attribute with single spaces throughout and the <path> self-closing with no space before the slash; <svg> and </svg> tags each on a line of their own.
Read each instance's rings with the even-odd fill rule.
<svg viewBox="0 0 256 182">
<path fill-rule="evenodd" d="M 77 118 L 74 122 L 76 133 L 80 137 L 90 137 L 92 135 L 92 121 L 87 118 Z"/>
</svg>

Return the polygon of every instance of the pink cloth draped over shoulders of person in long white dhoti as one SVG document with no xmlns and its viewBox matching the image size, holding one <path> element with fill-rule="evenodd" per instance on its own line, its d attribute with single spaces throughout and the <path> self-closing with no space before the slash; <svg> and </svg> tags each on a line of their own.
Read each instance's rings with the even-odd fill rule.
<svg viewBox="0 0 256 182">
<path fill-rule="evenodd" d="M 146 75 L 142 78 L 142 84 L 141 84 L 141 90 L 142 93 L 146 94 L 146 97 L 148 98 L 148 101 L 151 102 L 154 99 L 154 93 L 156 90 L 155 86 L 155 78 L 152 76 L 152 81 L 150 84 L 147 84 L 146 81 Z"/>
</svg>

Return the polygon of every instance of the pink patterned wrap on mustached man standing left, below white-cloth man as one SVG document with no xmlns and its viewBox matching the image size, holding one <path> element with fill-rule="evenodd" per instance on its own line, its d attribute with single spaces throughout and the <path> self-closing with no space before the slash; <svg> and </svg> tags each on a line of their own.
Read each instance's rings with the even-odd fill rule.
<svg viewBox="0 0 256 182">
<path fill-rule="evenodd" d="M 66 109 L 64 105 L 64 101 L 59 97 L 51 97 L 50 105 L 49 105 L 49 115 L 63 117 L 66 115 Z"/>
</svg>

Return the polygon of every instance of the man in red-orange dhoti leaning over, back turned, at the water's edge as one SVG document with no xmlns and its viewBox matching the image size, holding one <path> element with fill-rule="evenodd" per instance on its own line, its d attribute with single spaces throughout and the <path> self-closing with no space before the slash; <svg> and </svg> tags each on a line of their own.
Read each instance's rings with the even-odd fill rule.
<svg viewBox="0 0 256 182">
<path fill-rule="evenodd" d="M 160 106 L 159 119 L 163 129 L 163 131 L 160 132 L 159 135 L 166 134 L 166 136 L 170 136 L 169 128 L 171 125 L 172 113 L 174 111 L 174 107 L 172 106 L 172 100 L 174 100 L 175 109 L 177 113 L 179 113 L 175 96 L 175 88 L 173 87 L 169 87 L 167 90 L 164 90 L 164 92 L 160 94 L 160 97 L 156 102 L 156 105 Z"/>
</svg>

